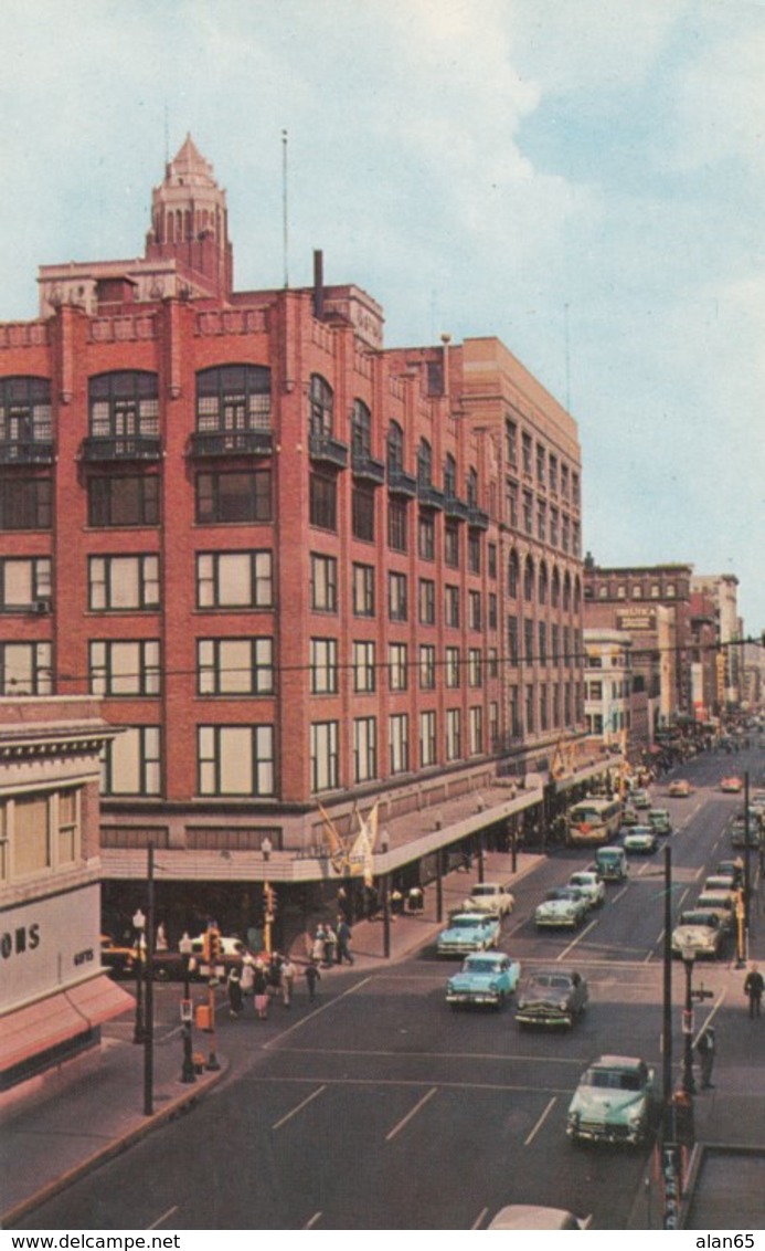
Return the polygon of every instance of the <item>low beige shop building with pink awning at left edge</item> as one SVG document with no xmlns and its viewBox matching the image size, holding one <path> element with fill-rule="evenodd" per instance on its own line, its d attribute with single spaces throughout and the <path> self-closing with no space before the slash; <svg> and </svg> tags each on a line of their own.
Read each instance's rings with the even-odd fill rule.
<svg viewBox="0 0 765 1251">
<path fill-rule="evenodd" d="M 0 1091 L 131 1005 L 101 970 L 98 701 L 0 699 Z"/>
</svg>

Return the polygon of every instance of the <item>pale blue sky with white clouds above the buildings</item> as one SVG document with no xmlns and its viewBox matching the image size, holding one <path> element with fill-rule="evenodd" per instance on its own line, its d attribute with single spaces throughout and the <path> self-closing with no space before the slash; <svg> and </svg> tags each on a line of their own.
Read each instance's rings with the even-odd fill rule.
<svg viewBox="0 0 765 1251">
<path fill-rule="evenodd" d="M 732 573 L 765 628 L 765 0 L 2 0 L 0 320 L 142 255 L 191 133 L 238 289 L 388 347 L 496 335 L 575 417 L 584 548 Z M 286 131 L 288 248 L 284 248 Z"/>
</svg>

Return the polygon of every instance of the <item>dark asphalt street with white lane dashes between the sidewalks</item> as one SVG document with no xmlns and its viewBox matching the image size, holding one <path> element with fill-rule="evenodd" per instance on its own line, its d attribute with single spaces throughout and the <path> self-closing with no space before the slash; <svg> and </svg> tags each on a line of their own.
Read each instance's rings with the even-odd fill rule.
<svg viewBox="0 0 765 1251">
<path fill-rule="evenodd" d="M 752 752 L 752 782 L 756 762 Z M 678 909 L 728 849 L 725 827 L 741 799 L 712 783 L 730 771 L 728 758 L 702 757 L 685 771 L 695 786 L 689 799 L 655 788 L 678 826 Z M 592 1213 L 595 1228 L 626 1227 L 642 1202 L 650 1148 L 572 1147 L 565 1115 L 599 1053 L 639 1055 L 661 1078 L 662 854 L 634 859 L 628 884 L 610 886 L 580 931 L 539 933 L 535 904 L 586 859 L 586 852 L 540 858 L 514 886 L 501 942 L 524 972 L 554 963 L 588 978 L 590 1007 L 570 1033 L 521 1032 L 511 1007 L 450 1010 L 444 988 L 455 966 L 436 958 L 430 936 L 400 963 L 360 960 L 325 975 L 316 1005 L 301 987 L 291 1012 L 275 1006 L 266 1023 L 230 1022 L 221 1012 L 229 1072 L 218 1088 L 19 1227 L 480 1228 L 510 1202 Z M 462 874 L 452 874 L 448 903 L 462 893 Z M 755 933 L 759 924 L 755 914 Z M 374 937 L 371 927 L 366 938 Z M 745 1096 L 736 1062 L 749 1063 L 760 1028 L 745 1020 L 740 996 L 731 1000 L 731 958 L 729 951 L 695 971 L 696 985 L 712 991 L 696 1028 L 714 1017 L 720 1047 L 718 1091 L 696 1101 L 708 1110 L 722 1097 L 728 1072 L 734 1096 Z M 674 985 L 678 1071 L 678 967 Z M 178 988 L 161 987 L 158 998 L 160 1040 L 171 1038 L 158 1046 L 178 1048 Z M 655 1226 L 658 1213 L 639 1220 Z"/>
</svg>

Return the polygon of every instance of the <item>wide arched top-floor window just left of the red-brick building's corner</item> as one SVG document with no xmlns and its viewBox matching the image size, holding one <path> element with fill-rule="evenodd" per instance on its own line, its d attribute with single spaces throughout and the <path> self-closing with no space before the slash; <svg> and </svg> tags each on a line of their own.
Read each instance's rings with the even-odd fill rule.
<svg viewBox="0 0 765 1251">
<path fill-rule="evenodd" d="M 271 370 L 265 365 L 215 365 L 196 375 L 196 430 L 271 429 Z"/>
</svg>

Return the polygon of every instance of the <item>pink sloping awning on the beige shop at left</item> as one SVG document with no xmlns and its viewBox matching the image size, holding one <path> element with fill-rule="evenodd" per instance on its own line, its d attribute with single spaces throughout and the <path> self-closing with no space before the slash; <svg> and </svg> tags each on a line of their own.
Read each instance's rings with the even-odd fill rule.
<svg viewBox="0 0 765 1251">
<path fill-rule="evenodd" d="M 132 1006 L 131 996 L 100 973 L 11 1011 L 0 1020 L 0 1072 L 86 1033 Z"/>
</svg>

